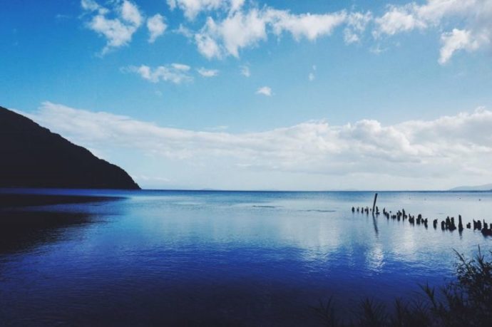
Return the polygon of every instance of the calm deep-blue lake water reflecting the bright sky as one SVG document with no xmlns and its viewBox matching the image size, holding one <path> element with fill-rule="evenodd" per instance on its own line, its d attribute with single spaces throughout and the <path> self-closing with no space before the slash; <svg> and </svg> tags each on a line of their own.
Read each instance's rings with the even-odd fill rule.
<svg viewBox="0 0 492 327">
<path fill-rule="evenodd" d="M 453 249 L 492 249 L 431 223 L 492 222 L 490 192 L 379 193 L 381 210 L 420 213 L 428 229 L 353 214 L 372 192 L 35 192 L 115 198 L 1 210 L 50 223 L 1 225 L 0 325 L 317 326 L 319 300 L 349 316 L 364 297 L 418 296 L 453 278 Z"/>
</svg>

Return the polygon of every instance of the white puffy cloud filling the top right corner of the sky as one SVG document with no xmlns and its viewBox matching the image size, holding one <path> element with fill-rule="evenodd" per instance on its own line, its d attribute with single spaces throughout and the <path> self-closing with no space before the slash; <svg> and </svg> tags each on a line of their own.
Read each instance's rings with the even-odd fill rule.
<svg viewBox="0 0 492 327">
<path fill-rule="evenodd" d="M 427 0 L 421 5 L 415 2 L 390 5 L 382 16 L 375 19 L 373 35 L 379 38 L 414 29 L 453 26 L 451 31 L 441 33 L 439 63 L 444 64 L 456 51 L 471 52 L 490 46 L 491 17 L 492 0 Z"/>
</svg>

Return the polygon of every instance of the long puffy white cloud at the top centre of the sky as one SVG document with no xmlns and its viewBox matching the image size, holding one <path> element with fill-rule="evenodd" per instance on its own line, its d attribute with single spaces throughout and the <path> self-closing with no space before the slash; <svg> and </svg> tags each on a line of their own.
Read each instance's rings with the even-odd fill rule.
<svg viewBox="0 0 492 327">
<path fill-rule="evenodd" d="M 303 38 L 314 41 L 329 36 L 342 24 L 347 26 L 347 43 L 354 43 L 359 41 L 370 19 L 370 13 L 292 14 L 269 6 L 261 9 L 238 6 L 236 10 L 227 11 L 225 17 L 208 16 L 194 38 L 198 51 L 206 58 L 239 57 L 241 49 L 257 46 L 266 41 L 269 34 L 280 37 L 282 33 L 289 33 L 297 41 Z"/>
</svg>

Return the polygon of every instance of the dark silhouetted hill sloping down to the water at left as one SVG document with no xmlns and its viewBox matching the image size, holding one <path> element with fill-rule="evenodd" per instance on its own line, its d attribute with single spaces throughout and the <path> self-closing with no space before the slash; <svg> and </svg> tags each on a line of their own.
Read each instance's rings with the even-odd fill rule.
<svg viewBox="0 0 492 327">
<path fill-rule="evenodd" d="M 3 107 L 0 187 L 140 189 L 120 167 Z"/>
</svg>

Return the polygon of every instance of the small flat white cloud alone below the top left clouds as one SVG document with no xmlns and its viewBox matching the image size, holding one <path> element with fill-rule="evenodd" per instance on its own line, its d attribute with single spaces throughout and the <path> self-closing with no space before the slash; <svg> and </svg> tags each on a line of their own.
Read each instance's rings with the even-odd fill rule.
<svg viewBox="0 0 492 327">
<path fill-rule="evenodd" d="M 122 68 L 122 71 L 137 73 L 141 78 L 151 83 L 164 81 L 180 84 L 193 81 L 193 77 L 188 73 L 190 66 L 183 65 L 182 63 L 172 63 L 171 65 L 158 66 L 157 68 L 150 68 L 145 65 L 129 66 Z"/>
</svg>

